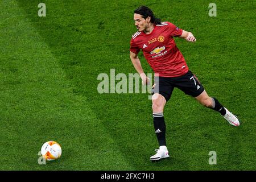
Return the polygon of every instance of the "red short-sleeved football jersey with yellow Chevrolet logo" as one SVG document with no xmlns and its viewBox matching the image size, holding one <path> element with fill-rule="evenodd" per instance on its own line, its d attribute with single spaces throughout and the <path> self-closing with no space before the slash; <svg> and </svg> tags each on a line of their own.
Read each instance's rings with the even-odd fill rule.
<svg viewBox="0 0 256 182">
<path fill-rule="evenodd" d="M 188 67 L 173 38 L 181 34 L 182 30 L 174 24 L 162 22 L 150 34 L 136 32 L 131 38 L 130 51 L 138 53 L 142 49 L 148 64 L 159 76 L 182 76 Z"/>
</svg>

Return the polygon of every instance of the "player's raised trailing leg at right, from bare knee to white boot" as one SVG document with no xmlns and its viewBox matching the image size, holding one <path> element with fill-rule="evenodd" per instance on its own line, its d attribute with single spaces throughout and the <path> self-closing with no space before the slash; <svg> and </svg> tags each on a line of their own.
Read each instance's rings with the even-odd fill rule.
<svg viewBox="0 0 256 182">
<path fill-rule="evenodd" d="M 218 111 L 230 123 L 230 125 L 240 125 L 237 117 L 234 114 L 230 113 L 230 111 L 224 106 L 222 106 L 216 98 L 209 97 L 205 90 L 195 98 L 197 101 L 200 102 L 200 104 L 204 105 L 205 107 L 209 107 L 210 109 Z"/>
</svg>

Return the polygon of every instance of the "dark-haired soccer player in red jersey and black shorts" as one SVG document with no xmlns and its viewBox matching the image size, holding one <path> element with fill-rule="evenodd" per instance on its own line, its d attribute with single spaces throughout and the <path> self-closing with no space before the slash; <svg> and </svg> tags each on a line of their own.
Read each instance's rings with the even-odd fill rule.
<svg viewBox="0 0 256 182">
<path fill-rule="evenodd" d="M 195 97 L 200 104 L 216 110 L 230 125 L 239 126 L 240 122 L 234 114 L 222 106 L 216 98 L 208 96 L 197 77 L 189 71 L 183 55 L 176 47 L 174 37 L 185 39 L 188 42 L 196 42 L 195 36 L 170 22 L 160 22 L 160 19 L 155 18 L 152 10 L 146 6 L 141 6 L 134 11 L 134 20 L 138 31 L 131 38 L 130 59 L 141 76 L 143 84 L 149 84 L 150 79 L 143 72 L 138 58 L 140 49 L 142 49 L 144 57 L 155 73 L 152 112 L 159 149 L 156 150 L 155 155 L 151 156 L 150 160 L 169 157 L 166 147 L 166 125 L 163 111 L 164 105 L 170 100 L 174 88 Z"/>
</svg>

